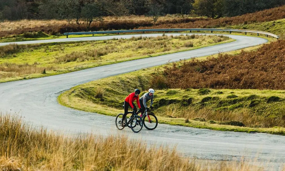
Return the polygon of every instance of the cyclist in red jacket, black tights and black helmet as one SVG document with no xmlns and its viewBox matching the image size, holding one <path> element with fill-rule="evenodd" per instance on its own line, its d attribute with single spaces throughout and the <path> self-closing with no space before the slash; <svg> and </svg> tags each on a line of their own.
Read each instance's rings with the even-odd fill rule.
<svg viewBox="0 0 285 171">
<path fill-rule="evenodd" d="M 125 121 L 125 118 L 128 114 L 128 108 L 129 106 L 133 109 L 133 110 L 136 110 L 137 107 L 135 106 L 135 103 L 133 103 L 133 101 L 137 101 L 137 105 L 139 107 L 139 109 L 141 110 L 141 105 L 140 105 L 140 102 L 139 102 L 139 94 L 141 93 L 141 90 L 139 89 L 135 89 L 135 92 L 129 94 L 126 99 L 125 99 L 125 102 L 124 102 L 124 110 L 125 110 L 125 113 L 123 115 L 123 118 L 122 118 L 122 121 Z M 121 123 L 121 126 L 122 127 L 125 127 L 124 125 L 125 123 L 122 122 Z"/>
</svg>

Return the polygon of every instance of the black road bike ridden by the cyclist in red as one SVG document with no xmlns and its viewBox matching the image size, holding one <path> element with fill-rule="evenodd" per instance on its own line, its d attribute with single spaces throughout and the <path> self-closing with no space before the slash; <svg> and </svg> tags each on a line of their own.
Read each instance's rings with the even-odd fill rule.
<svg viewBox="0 0 285 171">
<path fill-rule="evenodd" d="M 123 105 L 124 107 L 124 105 Z M 129 127 L 132 129 L 133 132 L 138 133 L 142 130 L 143 128 L 143 119 L 138 115 L 141 111 L 140 110 L 134 110 L 134 111 L 128 111 L 128 114 L 131 114 L 129 119 L 126 116 L 125 118 L 125 127 Z M 123 119 L 123 113 L 119 113 L 116 117 L 116 127 L 119 130 L 124 129 L 124 127 L 121 127 Z"/>
</svg>

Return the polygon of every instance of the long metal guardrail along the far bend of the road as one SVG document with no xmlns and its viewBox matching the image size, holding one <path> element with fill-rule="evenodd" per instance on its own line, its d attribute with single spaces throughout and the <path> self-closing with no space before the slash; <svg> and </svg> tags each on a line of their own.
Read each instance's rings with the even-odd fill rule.
<svg viewBox="0 0 285 171">
<path fill-rule="evenodd" d="M 81 35 L 81 34 L 106 34 L 106 33 L 127 33 L 127 32 L 169 32 L 169 31 L 211 31 L 211 33 L 213 33 L 213 31 L 226 31 L 226 32 L 245 32 L 245 34 L 249 33 L 256 33 L 257 36 L 259 36 L 259 34 L 265 34 L 266 37 L 268 36 L 272 36 L 275 38 L 279 38 L 279 36 L 272 34 L 272 33 L 268 33 L 268 32 L 264 32 L 264 31 L 256 31 L 256 30 L 239 30 L 239 29 L 223 29 L 223 28 L 165 28 L 165 29 L 140 29 L 140 30 L 112 30 L 112 31 L 94 31 L 94 32 L 67 32 L 64 33 L 64 35 L 66 35 L 66 38 L 68 38 L 68 35 Z"/>
</svg>

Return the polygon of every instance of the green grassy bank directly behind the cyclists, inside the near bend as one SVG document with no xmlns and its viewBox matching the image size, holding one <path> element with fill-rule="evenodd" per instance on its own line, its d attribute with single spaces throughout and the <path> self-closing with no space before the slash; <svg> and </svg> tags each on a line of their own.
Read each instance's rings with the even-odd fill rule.
<svg viewBox="0 0 285 171">
<path fill-rule="evenodd" d="M 149 79 L 159 70 L 163 70 L 163 66 L 79 85 L 62 93 L 58 97 L 58 102 L 78 110 L 116 116 L 123 112 L 123 101 L 133 89 L 140 88 L 146 92 L 151 88 Z M 103 91 L 102 98 L 95 97 L 97 91 Z M 264 125 L 268 118 L 271 118 L 269 121 L 273 121 L 274 118 L 284 117 L 285 91 L 211 89 L 208 94 L 199 92 L 201 90 L 197 89 L 156 90 L 154 113 L 158 116 L 159 123 L 219 131 L 285 135 L 283 127 Z M 231 98 L 233 95 L 237 97 Z M 273 100 L 268 100 L 272 99 L 272 96 L 278 96 L 280 99 L 276 100 L 273 97 Z M 233 119 L 253 127 L 225 125 L 231 124 L 229 121 Z"/>
</svg>

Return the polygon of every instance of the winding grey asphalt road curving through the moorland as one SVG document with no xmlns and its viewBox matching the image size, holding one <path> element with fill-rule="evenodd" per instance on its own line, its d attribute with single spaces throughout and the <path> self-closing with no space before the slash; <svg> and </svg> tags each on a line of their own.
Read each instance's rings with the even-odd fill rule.
<svg viewBox="0 0 285 171">
<path fill-rule="evenodd" d="M 171 34 L 175 35 L 175 33 Z M 102 40 L 141 35 L 52 39 L 16 43 Z M 157 35 L 161 34 L 143 34 L 142 36 Z M 58 95 L 63 91 L 89 81 L 162 65 L 169 61 L 174 62 L 180 59 L 232 51 L 267 42 L 267 40 L 258 37 L 227 36 L 236 39 L 236 41 L 186 52 L 100 66 L 68 74 L 2 83 L 0 84 L 0 110 L 4 113 L 20 112 L 23 119 L 33 123 L 34 126 L 43 125 L 49 129 L 60 130 L 65 133 L 74 134 L 90 131 L 97 135 L 123 133 L 133 139 L 145 140 L 148 144 L 176 146 L 184 156 L 237 161 L 240 161 L 244 156 L 244 159 L 250 161 L 251 164 L 262 165 L 268 170 L 281 170 L 285 163 L 284 136 L 220 132 L 164 124 L 159 124 L 154 131 L 143 129 L 140 133 L 135 134 L 128 128 L 122 131 L 117 130 L 115 117 L 70 109 L 59 105 L 56 101 Z M 0 46 L 5 44 L 7 43 L 1 43 Z"/>
</svg>

